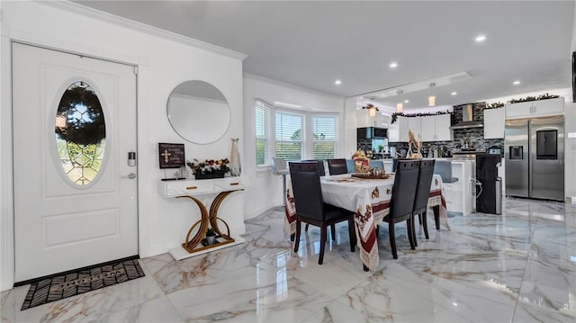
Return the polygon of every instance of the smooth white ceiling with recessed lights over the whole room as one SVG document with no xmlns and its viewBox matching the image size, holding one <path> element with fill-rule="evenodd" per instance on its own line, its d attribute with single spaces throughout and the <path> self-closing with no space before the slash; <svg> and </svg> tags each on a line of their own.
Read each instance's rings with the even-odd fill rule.
<svg viewBox="0 0 576 323">
<path fill-rule="evenodd" d="M 247 54 L 245 73 L 405 112 L 431 92 L 456 105 L 572 86 L 573 0 L 76 2 Z"/>
</svg>

